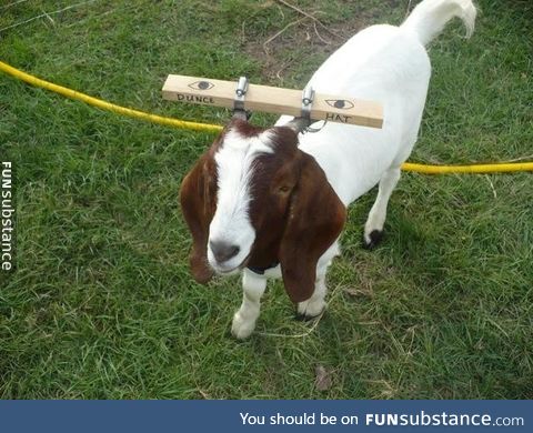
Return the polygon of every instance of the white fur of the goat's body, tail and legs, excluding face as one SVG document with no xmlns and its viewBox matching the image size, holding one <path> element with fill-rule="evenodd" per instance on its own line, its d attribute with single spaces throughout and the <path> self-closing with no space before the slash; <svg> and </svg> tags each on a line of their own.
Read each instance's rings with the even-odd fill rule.
<svg viewBox="0 0 533 433">
<path fill-rule="evenodd" d="M 300 149 L 314 157 L 346 207 L 380 184 L 365 224 L 366 241 L 372 231 L 383 230 L 389 198 L 400 179 L 400 165 L 416 141 L 431 75 L 424 44 L 453 17 L 460 17 L 467 33 L 472 33 L 475 8 L 470 0 L 425 0 L 404 24 L 373 26 L 354 36 L 310 80 L 319 93 L 383 104 L 382 129 L 330 122 L 319 132 L 300 135 Z M 291 119 L 282 117 L 276 124 Z M 325 306 L 325 272 L 338 251 L 335 242 L 320 259 L 315 293 L 298 305 L 300 313 L 315 315 Z M 253 331 L 268 276 L 269 273 L 244 272 L 244 301 L 232 328 L 237 338 L 245 338 Z"/>
</svg>

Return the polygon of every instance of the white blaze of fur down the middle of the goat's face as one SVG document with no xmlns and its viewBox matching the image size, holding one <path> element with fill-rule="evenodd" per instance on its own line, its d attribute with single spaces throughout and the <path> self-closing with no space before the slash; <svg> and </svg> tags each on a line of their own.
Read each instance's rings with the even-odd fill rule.
<svg viewBox="0 0 533 433">
<path fill-rule="evenodd" d="M 253 161 L 261 153 L 272 153 L 270 131 L 247 139 L 238 131 L 225 134 L 221 149 L 215 153 L 218 174 L 217 211 L 209 226 L 210 242 L 239 245 L 240 252 L 231 260 L 219 263 L 208 242 L 209 264 L 219 273 L 231 273 L 250 253 L 255 230 L 249 216 L 250 177 Z"/>
</svg>

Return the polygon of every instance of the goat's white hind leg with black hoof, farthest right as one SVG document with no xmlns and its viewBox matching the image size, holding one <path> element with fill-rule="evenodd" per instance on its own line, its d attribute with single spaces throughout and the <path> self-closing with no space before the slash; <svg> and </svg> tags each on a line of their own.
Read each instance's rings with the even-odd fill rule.
<svg viewBox="0 0 533 433">
<path fill-rule="evenodd" d="M 369 218 L 364 224 L 364 246 L 371 249 L 375 246 L 383 236 L 383 225 L 386 218 L 386 205 L 392 191 L 400 180 L 400 168 L 386 170 L 380 180 L 378 198 L 370 210 Z"/>
</svg>

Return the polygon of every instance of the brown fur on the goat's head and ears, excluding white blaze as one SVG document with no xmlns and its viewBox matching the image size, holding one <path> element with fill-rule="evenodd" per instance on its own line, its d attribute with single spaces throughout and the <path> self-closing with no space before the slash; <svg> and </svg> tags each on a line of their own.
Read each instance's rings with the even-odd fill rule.
<svg viewBox="0 0 533 433">
<path fill-rule="evenodd" d="M 263 131 L 244 121 L 230 125 L 247 137 Z M 257 238 L 243 265 L 265 268 L 280 262 L 289 298 L 302 302 L 313 294 L 318 260 L 339 236 L 346 211 L 314 158 L 298 149 L 296 133 L 283 127 L 273 131 L 274 153 L 260 155 L 254 164 L 250 218 Z M 181 188 L 183 215 L 193 238 L 191 270 L 201 283 L 213 273 L 207 260 L 217 197 L 213 155 L 223 145 L 224 133 L 200 158 Z"/>
</svg>

